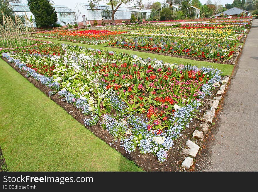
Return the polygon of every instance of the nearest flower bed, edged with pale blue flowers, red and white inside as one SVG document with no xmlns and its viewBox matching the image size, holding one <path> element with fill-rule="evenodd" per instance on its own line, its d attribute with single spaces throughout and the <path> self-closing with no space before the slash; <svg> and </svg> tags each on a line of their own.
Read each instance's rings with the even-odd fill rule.
<svg viewBox="0 0 258 192">
<path fill-rule="evenodd" d="M 166 160 L 174 140 L 199 113 L 204 96 L 220 81 L 220 71 L 213 68 L 78 46 L 49 44 L 41 50 L 3 57 L 53 89 L 49 95 L 59 93 L 76 106 L 88 116 L 86 126 L 99 123 L 128 153 L 152 153 L 159 162 Z"/>
</svg>

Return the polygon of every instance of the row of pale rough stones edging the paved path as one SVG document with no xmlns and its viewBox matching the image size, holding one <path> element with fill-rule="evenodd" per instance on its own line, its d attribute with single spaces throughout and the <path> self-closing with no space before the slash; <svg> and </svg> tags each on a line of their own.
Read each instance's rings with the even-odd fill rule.
<svg viewBox="0 0 258 192">
<path fill-rule="evenodd" d="M 203 115 L 203 123 L 201 123 L 197 127 L 197 129 L 193 132 L 192 136 L 193 139 L 197 139 L 199 141 L 200 146 L 205 137 L 205 134 L 207 134 L 209 131 L 209 127 L 211 126 L 213 117 L 215 116 L 215 110 L 218 108 L 219 101 L 222 97 L 222 94 L 224 93 L 224 90 L 226 89 L 228 81 L 228 76 L 223 77 L 221 80 L 222 85 L 220 86 L 220 89 L 217 91 L 214 100 L 208 99 L 205 103 L 205 105 L 210 107 L 210 109 L 206 110 L 206 113 Z M 187 148 L 183 147 L 181 150 L 181 154 L 187 155 L 187 157 L 184 159 L 181 167 L 187 170 L 190 169 L 190 167 L 193 165 L 193 158 L 196 157 L 200 149 L 200 146 L 191 140 L 187 140 L 185 145 Z"/>
</svg>

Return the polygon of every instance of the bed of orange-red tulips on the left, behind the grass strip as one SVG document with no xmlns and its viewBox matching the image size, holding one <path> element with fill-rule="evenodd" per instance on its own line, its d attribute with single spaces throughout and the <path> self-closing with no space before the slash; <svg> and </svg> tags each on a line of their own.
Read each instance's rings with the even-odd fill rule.
<svg viewBox="0 0 258 192">
<path fill-rule="evenodd" d="M 113 39 L 117 34 L 122 34 L 122 31 L 108 30 L 84 30 L 84 31 L 56 31 L 47 32 L 39 37 L 47 39 L 58 39 L 62 41 L 71 41 L 77 43 L 98 45 L 103 44 Z"/>
</svg>

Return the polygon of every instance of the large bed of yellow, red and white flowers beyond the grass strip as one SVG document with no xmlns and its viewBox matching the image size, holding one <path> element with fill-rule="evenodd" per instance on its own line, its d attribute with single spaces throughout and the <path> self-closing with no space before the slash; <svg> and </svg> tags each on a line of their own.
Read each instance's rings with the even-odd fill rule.
<svg viewBox="0 0 258 192">
<path fill-rule="evenodd" d="M 224 63 L 233 56 L 250 22 L 250 19 L 227 19 L 205 23 L 147 23 L 117 36 L 108 45 Z"/>
</svg>

